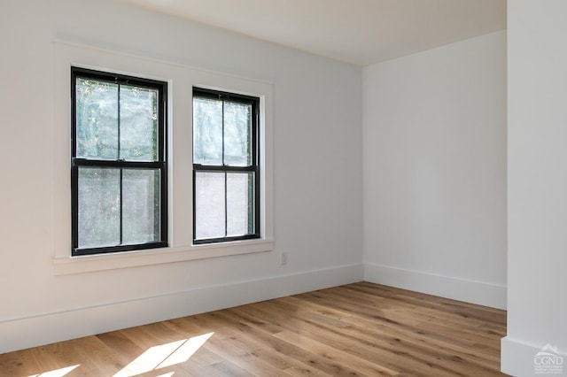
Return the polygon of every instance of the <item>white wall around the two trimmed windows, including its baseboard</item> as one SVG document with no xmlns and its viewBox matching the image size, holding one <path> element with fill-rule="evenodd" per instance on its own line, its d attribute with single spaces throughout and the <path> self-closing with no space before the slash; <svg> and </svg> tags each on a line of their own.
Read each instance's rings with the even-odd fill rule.
<svg viewBox="0 0 567 377">
<path fill-rule="evenodd" d="M 359 67 L 110 0 L 4 0 L 0 35 L 0 352 L 362 279 Z M 272 83 L 276 250 L 56 276 L 54 39 Z"/>
</svg>

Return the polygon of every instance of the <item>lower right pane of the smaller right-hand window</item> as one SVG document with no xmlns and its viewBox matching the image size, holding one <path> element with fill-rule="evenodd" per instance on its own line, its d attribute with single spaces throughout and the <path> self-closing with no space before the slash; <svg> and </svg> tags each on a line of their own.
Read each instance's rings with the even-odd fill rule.
<svg viewBox="0 0 567 377">
<path fill-rule="evenodd" d="M 227 173 L 227 235 L 254 233 L 253 173 Z"/>
</svg>

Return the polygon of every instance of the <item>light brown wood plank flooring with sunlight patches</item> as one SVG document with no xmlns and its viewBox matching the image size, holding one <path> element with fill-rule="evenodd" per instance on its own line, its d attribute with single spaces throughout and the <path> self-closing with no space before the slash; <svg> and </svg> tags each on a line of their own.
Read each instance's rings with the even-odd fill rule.
<svg viewBox="0 0 567 377">
<path fill-rule="evenodd" d="M 492 376 L 506 312 L 368 282 L 0 355 L 0 376 Z"/>
</svg>

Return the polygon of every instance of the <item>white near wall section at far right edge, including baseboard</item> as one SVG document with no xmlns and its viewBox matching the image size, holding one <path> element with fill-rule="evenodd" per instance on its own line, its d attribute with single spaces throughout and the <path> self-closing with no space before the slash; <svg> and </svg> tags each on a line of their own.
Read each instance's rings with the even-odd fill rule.
<svg viewBox="0 0 567 377">
<path fill-rule="evenodd" d="M 567 3 L 509 0 L 508 335 L 502 371 L 546 344 L 567 373 Z"/>
</svg>

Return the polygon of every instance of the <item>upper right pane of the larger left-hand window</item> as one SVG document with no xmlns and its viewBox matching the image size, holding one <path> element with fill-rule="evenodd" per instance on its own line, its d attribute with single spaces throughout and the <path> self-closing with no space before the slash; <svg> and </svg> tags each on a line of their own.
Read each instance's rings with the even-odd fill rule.
<svg viewBox="0 0 567 377">
<path fill-rule="evenodd" d="M 158 90 L 120 85 L 120 158 L 158 159 Z"/>
</svg>

